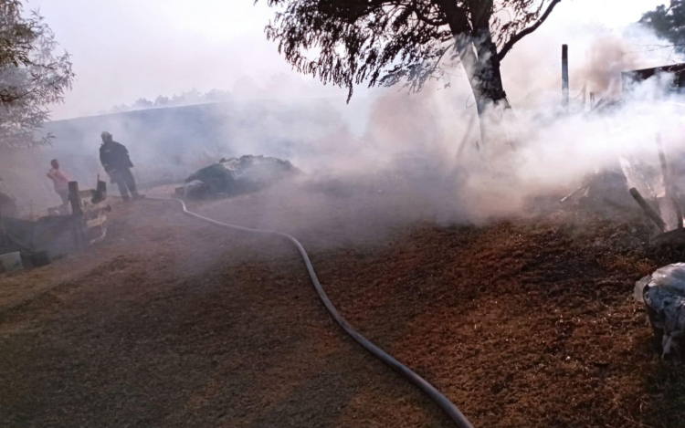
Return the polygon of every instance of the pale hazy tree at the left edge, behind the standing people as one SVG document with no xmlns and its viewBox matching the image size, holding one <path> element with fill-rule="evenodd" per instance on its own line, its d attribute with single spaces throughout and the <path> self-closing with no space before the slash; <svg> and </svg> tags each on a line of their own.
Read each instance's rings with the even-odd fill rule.
<svg viewBox="0 0 685 428">
<path fill-rule="evenodd" d="M 61 102 L 75 77 L 67 52 L 37 11 L 23 16 L 20 0 L 0 0 L 0 147 L 47 144 L 37 136 L 48 106 Z"/>
</svg>

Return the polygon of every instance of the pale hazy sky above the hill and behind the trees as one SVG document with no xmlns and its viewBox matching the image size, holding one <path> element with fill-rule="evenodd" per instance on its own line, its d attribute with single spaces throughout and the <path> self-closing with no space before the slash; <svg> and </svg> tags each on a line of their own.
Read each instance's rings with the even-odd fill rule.
<svg viewBox="0 0 685 428">
<path fill-rule="evenodd" d="M 298 78 L 266 41 L 272 11 L 253 0 L 31 0 L 73 55 L 78 74 L 54 119 L 90 115 L 135 99 L 189 89 L 286 90 Z M 562 20 L 627 26 L 659 0 L 564 0 L 545 26 Z M 545 27 L 543 26 L 541 30 Z M 533 34 L 532 37 L 543 37 Z M 516 55 L 512 51 L 511 55 Z M 276 78 L 274 78 L 276 76 Z M 307 80 L 312 96 L 338 95 Z"/>
</svg>

